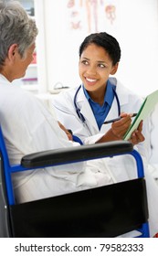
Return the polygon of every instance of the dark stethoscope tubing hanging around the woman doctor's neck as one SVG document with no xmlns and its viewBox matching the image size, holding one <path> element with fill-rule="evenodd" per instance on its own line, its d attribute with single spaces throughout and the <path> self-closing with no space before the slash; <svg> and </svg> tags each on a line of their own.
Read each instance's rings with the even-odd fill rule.
<svg viewBox="0 0 158 256">
<path fill-rule="evenodd" d="M 76 112 L 77 112 L 77 114 L 78 114 L 78 116 L 79 116 L 80 121 L 81 121 L 82 123 L 85 123 L 86 120 L 85 120 L 83 114 L 80 112 L 80 109 L 79 109 L 79 107 L 78 107 L 78 105 L 77 105 L 77 96 L 78 96 L 78 93 L 79 93 L 80 88 L 81 88 L 81 85 L 79 85 L 79 88 L 78 88 L 78 90 L 77 90 L 76 93 L 75 93 L 75 96 L 74 96 L 74 106 L 75 106 L 75 109 L 76 109 Z M 115 86 L 112 86 L 112 90 L 113 90 L 114 97 L 116 98 L 117 105 L 118 105 L 118 116 L 120 116 L 120 114 L 121 114 L 121 104 L 120 104 L 118 95 L 117 95 L 117 93 L 116 93 L 116 91 L 115 91 Z"/>
</svg>

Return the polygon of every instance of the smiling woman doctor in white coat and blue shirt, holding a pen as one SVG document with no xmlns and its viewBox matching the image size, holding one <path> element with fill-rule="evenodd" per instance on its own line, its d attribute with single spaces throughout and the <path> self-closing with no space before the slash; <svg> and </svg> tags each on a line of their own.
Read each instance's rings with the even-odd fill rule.
<svg viewBox="0 0 158 256">
<path fill-rule="evenodd" d="M 110 78 L 116 73 L 120 59 L 121 48 L 114 37 L 105 32 L 91 34 L 79 48 L 79 77 L 82 84 L 60 92 L 53 99 L 58 121 L 79 136 L 83 144 L 122 140 L 132 123 L 132 113 L 138 112 L 141 107 L 142 99 L 139 96 L 123 87 L 115 78 Z M 121 120 L 104 124 L 119 116 Z M 140 123 L 132 133 L 131 141 L 142 155 L 145 166 L 153 235 L 158 229 L 158 207 L 153 203 L 158 198 L 158 187 L 146 168 L 150 155 L 148 125 L 149 122 L 144 122 L 142 129 Z M 100 165 L 100 173 L 102 169 L 108 169 L 114 182 L 135 175 L 134 163 L 127 155 L 102 159 L 97 161 L 97 165 Z"/>
</svg>

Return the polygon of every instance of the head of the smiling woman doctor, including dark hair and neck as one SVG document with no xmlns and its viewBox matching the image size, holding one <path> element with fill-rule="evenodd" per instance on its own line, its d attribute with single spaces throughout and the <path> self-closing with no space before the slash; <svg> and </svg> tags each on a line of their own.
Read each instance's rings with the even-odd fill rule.
<svg viewBox="0 0 158 256">
<path fill-rule="evenodd" d="M 103 100 L 107 80 L 118 69 L 121 48 L 106 32 L 90 34 L 79 47 L 79 77 L 93 101 Z"/>
</svg>

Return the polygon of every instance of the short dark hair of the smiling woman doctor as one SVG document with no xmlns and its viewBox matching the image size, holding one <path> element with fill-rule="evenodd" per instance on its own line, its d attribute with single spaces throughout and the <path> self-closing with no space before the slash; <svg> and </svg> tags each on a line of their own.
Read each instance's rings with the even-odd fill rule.
<svg viewBox="0 0 158 256">
<path fill-rule="evenodd" d="M 90 36 L 85 37 L 83 42 L 79 47 L 79 58 L 82 52 L 91 44 L 95 44 L 101 48 L 104 48 L 108 52 L 112 64 L 115 65 L 121 59 L 121 48 L 115 37 L 107 34 L 106 32 L 90 34 Z"/>
</svg>

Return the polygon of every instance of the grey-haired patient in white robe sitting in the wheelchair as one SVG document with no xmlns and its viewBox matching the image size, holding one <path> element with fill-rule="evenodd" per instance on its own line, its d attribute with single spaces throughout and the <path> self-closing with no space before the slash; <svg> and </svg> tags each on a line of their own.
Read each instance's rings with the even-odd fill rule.
<svg viewBox="0 0 158 256">
<path fill-rule="evenodd" d="M 35 21 L 16 1 L 5 3 L 0 0 L 0 31 L 0 123 L 10 162 L 18 164 L 24 155 L 38 151 L 78 146 L 68 139 L 62 124 L 58 124 L 56 116 L 41 101 L 12 84 L 13 80 L 25 75 L 33 59 L 37 37 Z M 62 165 L 13 175 L 16 202 L 52 197 L 115 181 L 101 160 L 97 165 L 90 161 L 90 164 Z M 158 230 L 155 208 L 158 193 L 153 185 L 151 187 L 149 208 L 151 235 L 154 235 Z"/>
</svg>

